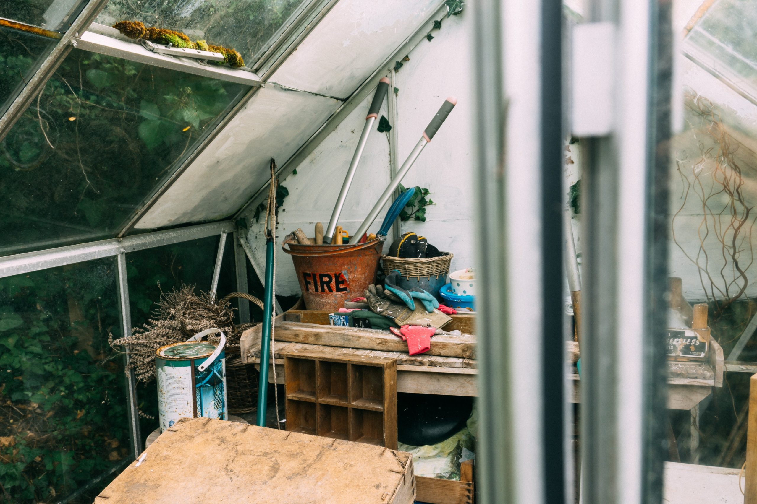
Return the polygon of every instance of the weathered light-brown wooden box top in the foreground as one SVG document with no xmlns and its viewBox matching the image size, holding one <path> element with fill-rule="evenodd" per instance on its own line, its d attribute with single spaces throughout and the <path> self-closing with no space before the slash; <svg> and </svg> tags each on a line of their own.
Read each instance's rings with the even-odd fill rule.
<svg viewBox="0 0 757 504">
<path fill-rule="evenodd" d="M 218 419 L 182 418 L 95 502 L 173 504 L 215 497 L 228 504 L 411 504 L 413 479 L 409 453 Z"/>
</svg>

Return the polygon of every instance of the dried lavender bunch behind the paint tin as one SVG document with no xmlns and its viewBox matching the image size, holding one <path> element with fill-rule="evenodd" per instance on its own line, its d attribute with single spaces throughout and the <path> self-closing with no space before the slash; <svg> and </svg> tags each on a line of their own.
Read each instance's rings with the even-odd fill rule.
<svg viewBox="0 0 757 504">
<path fill-rule="evenodd" d="M 195 294 L 194 286 L 181 285 L 160 294 L 154 319 L 141 328 L 132 328 L 132 335 L 114 340 L 111 347 L 129 353 L 129 369 L 134 369 L 137 380 L 148 382 L 155 378 L 155 350 L 164 345 L 187 341 L 198 332 L 211 327 L 226 334 L 226 345 L 237 346 L 241 331 L 234 326 L 234 309 L 228 301 L 216 300 L 208 292 Z M 219 334 L 207 336 L 209 341 L 220 341 Z M 128 371 L 128 369 L 127 369 Z"/>
</svg>

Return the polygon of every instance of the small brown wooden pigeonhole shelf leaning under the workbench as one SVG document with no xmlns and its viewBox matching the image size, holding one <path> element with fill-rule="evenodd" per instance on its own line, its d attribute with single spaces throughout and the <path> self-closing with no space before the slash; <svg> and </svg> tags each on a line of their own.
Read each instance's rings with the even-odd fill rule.
<svg viewBox="0 0 757 504">
<path fill-rule="evenodd" d="M 397 449 L 397 362 L 285 353 L 286 428 Z"/>
</svg>

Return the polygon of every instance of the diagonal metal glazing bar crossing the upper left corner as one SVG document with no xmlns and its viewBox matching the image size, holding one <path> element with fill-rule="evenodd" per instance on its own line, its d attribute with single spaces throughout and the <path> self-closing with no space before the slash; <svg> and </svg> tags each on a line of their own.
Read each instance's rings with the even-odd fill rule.
<svg viewBox="0 0 757 504">
<path fill-rule="evenodd" d="M 21 117 L 26 107 L 42 91 L 42 88 L 45 87 L 45 84 L 52 74 L 55 73 L 55 70 L 58 70 L 58 67 L 71 50 L 71 46 L 69 45 L 70 40 L 86 30 L 86 27 L 100 14 L 106 3 L 107 0 L 90 0 L 87 2 L 82 11 L 79 12 L 79 15 L 76 16 L 76 19 L 73 20 L 69 29 L 66 30 L 66 33 L 61 36 L 58 45 L 55 45 L 55 48 L 39 64 L 29 82 L 26 83 L 26 86 L 13 99 L 8 109 L 0 117 L 0 142 L 3 141 L 5 135 L 8 135 L 8 132 L 18 118 Z"/>
</svg>

